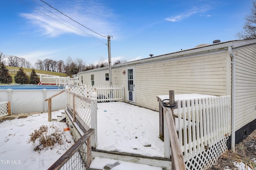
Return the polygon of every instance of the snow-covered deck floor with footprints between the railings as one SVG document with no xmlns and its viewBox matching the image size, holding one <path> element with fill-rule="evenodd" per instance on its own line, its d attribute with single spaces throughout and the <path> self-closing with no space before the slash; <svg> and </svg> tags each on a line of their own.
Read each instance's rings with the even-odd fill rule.
<svg viewBox="0 0 256 170">
<path fill-rule="evenodd" d="M 98 103 L 96 149 L 164 158 L 159 113 L 124 102 Z"/>
</svg>

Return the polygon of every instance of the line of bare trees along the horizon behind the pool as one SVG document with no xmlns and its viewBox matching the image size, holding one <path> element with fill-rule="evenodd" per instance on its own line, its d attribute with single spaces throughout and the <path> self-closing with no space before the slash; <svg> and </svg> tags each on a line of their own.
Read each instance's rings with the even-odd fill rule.
<svg viewBox="0 0 256 170">
<path fill-rule="evenodd" d="M 63 60 L 56 61 L 53 59 L 37 59 L 37 62 L 34 64 L 33 67 L 33 65 L 25 58 L 17 57 L 14 55 L 5 55 L 3 52 L 0 51 L 0 63 L 3 63 L 4 65 L 23 68 L 35 68 L 46 71 L 56 71 L 59 73 L 66 73 L 70 77 L 81 71 L 108 66 L 108 62 L 104 62 L 103 59 L 100 60 L 101 61 L 98 61 L 97 64 L 91 63 L 87 65 L 86 62 L 81 58 L 72 59 L 71 57 L 68 57 L 66 59 L 66 62 L 64 62 Z M 126 62 L 126 60 L 118 60 L 115 61 L 114 64 Z"/>
</svg>

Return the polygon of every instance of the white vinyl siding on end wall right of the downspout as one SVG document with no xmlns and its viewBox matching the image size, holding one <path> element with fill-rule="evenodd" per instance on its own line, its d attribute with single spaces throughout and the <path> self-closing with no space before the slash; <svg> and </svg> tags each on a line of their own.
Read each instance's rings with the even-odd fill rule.
<svg viewBox="0 0 256 170">
<path fill-rule="evenodd" d="M 236 51 L 236 128 L 256 119 L 256 47 Z"/>
</svg>

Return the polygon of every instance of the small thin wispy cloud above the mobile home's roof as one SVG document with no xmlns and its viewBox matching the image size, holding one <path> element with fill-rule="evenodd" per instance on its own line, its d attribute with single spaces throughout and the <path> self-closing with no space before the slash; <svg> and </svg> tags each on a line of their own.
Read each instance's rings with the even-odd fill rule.
<svg viewBox="0 0 256 170">
<path fill-rule="evenodd" d="M 171 21 L 171 22 L 179 22 L 179 21 L 181 21 L 185 18 L 188 18 L 192 15 L 204 13 L 208 10 L 209 10 L 209 8 L 207 8 L 206 6 L 203 6 L 203 7 L 200 7 L 200 8 L 194 7 L 193 9 L 191 9 L 191 10 L 185 12 L 185 13 L 165 18 L 165 20 L 166 21 Z"/>
</svg>

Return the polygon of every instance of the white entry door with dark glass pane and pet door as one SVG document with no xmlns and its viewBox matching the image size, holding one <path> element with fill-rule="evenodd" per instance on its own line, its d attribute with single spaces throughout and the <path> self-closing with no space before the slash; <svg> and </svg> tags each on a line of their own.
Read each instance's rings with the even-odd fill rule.
<svg viewBox="0 0 256 170">
<path fill-rule="evenodd" d="M 135 103 L 136 101 L 136 86 L 135 86 L 135 67 L 126 67 L 127 73 L 127 101 Z"/>
</svg>

